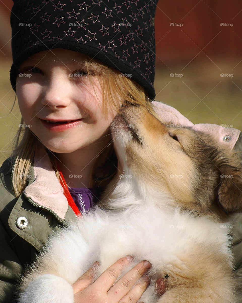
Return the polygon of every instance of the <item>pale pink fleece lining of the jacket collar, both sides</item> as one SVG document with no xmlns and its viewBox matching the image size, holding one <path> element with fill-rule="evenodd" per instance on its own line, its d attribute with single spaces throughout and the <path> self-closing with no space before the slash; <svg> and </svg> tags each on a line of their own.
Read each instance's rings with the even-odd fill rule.
<svg viewBox="0 0 242 303">
<path fill-rule="evenodd" d="M 207 132 L 229 149 L 232 149 L 238 140 L 240 131 L 237 129 L 225 128 L 215 124 L 194 125 L 169 105 L 157 101 L 152 101 L 152 105 L 157 114 L 162 117 L 161 120 L 164 123 L 172 123 L 174 126 L 191 126 L 196 130 Z M 225 136 L 229 136 L 231 139 L 225 141 L 223 140 Z M 24 194 L 38 205 L 51 209 L 58 217 L 64 219 L 68 209 L 68 201 L 43 146 L 36 149 L 33 169 L 35 181 L 25 188 Z"/>
</svg>

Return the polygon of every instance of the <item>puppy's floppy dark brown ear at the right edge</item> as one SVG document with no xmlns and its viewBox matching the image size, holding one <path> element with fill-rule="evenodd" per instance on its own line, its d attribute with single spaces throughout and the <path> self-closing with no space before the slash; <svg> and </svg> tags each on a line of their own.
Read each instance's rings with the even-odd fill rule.
<svg viewBox="0 0 242 303">
<path fill-rule="evenodd" d="M 227 213 L 242 211 L 242 171 L 241 167 L 229 164 L 220 166 L 218 201 Z"/>
</svg>

